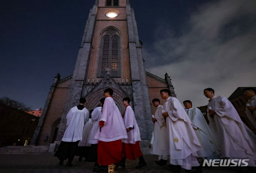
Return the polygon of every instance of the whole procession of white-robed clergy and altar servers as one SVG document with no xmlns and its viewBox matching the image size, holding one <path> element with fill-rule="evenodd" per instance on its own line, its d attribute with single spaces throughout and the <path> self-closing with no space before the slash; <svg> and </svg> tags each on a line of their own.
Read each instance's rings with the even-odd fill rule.
<svg viewBox="0 0 256 173">
<path fill-rule="evenodd" d="M 159 99 L 153 99 L 156 107 L 152 115 L 154 132 L 151 139 L 150 153 L 158 155 L 156 164 L 171 172 L 202 172 L 203 160 L 210 159 L 247 159 L 249 167 L 256 167 L 256 136 L 241 121 L 231 102 L 224 96 L 215 96 L 212 88 L 204 89 L 209 98 L 207 117 L 209 124 L 198 108 L 192 107 L 190 100 L 183 102 L 187 112 L 170 90 L 162 89 L 160 96 L 165 99 L 160 105 Z M 256 91 L 244 89 L 249 98 L 246 114 L 256 125 Z M 85 99 L 71 108 L 66 116 L 66 131 L 55 152 L 59 165 L 72 166 L 75 155 L 85 157 L 85 161 L 95 162 L 93 172 L 108 172 L 108 165 L 125 167 L 126 158 L 146 165 L 140 150 L 140 132 L 128 97 L 123 99 L 125 112 L 121 115 L 113 100 L 113 90 L 104 91 L 105 98 L 100 106 L 91 112 L 84 107 Z M 168 164 L 167 164 L 168 162 Z M 240 164 L 240 163 L 239 163 Z"/>
</svg>

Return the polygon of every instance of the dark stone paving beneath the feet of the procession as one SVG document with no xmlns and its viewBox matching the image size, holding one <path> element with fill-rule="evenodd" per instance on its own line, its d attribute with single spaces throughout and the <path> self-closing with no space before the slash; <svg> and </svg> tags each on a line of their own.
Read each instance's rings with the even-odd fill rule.
<svg viewBox="0 0 256 173">
<path fill-rule="evenodd" d="M 113 173 L 168 173 L 166 169 L 154 163 L 157 156 L 144 155 L 147 166 L 142 169 L 135 169 L 134 166 L 139 162 L 126 161 L 126 168 L 121 167 L 114 170 L 114 166 L 110 166 L 108 171 Z M 50 154 L 44 155 L 0 155 L 0 173 L 92 173 L 94 163 L 78 161 L 75 156 L 73 167 L 65 167 L 58 165 L 58 158 Z M 64 161 L 64 164 L 66 161 Z M 203 173 L 234 173 L 223 167 L 204 167 Z M 252 171 L 250 171 L 252 172 Z M 184 169 L 181 173 L 186 173 Z"/>
</svg>

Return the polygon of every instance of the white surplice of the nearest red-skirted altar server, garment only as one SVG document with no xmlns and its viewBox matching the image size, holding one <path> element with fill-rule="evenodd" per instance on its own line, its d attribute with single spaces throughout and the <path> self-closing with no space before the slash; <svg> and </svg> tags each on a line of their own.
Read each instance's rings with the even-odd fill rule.
<svg viewBox="0 0 256 173">
<path fill-rule="evenodd" d="M 123 117 L 112 97 L 105 99 L 100 121 L 104 125 L 98 129 L 95 139 L 110 142 L 128 138 Z"/>
</svg>

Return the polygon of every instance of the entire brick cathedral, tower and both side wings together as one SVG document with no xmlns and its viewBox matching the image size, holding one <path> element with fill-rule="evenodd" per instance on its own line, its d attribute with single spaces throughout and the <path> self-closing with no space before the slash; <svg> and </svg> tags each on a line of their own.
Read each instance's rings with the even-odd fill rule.
<svg viewBox="0 0 256 173">
<path fill-rule="evenodd" d="M 168 88 L 176 96 L 171 79 L 145 71 L 142 42 L 129 0 L 96 0 L 86 22 L 74 73 L 50 86 L 43 113 L 31 144 L 47 145 L 60 141 L 66 128 L 70 108 L 86 98 L 88 110 L 99 106 L 106 88 L 114 90 L 113 99 L 124 111 L 122 100 L 130 97 L 142 140 L 150 140 L 154 98 Z M 161 104 L 164 100 L 161 100 Z"/>
</svg>

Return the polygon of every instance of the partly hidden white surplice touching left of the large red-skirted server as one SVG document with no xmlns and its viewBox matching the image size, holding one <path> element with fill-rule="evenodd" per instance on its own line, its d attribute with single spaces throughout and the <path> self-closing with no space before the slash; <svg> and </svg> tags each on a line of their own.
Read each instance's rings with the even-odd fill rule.
<svg viewBox="0 0 256 173">
<path fill-rule="evenodd" d="M 92 130 L 91 130 L 91 135 L 89 138 L 89 143 L 90 144 L 98 144 L 98 140 L 95 139 L 95 135 L 98 131 L 99 127 L 99 122 L 100 122 L 100 118 L 101 118 L 101 106 L 96 107 L 94 109 L 94 111 L 92 111 Z"/>
</svg>

